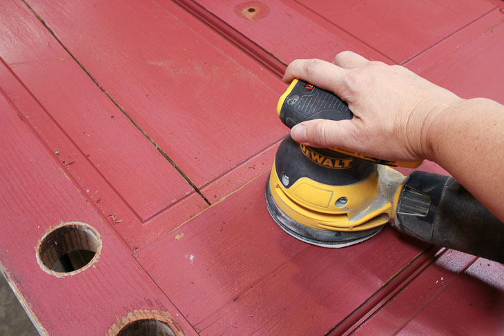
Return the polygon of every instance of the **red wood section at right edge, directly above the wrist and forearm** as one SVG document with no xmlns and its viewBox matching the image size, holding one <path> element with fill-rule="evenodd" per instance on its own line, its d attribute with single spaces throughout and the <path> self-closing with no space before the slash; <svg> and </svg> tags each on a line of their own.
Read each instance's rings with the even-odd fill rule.
<svg viewBox="0 0 504 336">
<path fill-rule="evenodd" d="M 504 103 L 502 55 L 504 12 L 496 9 L 406 66 L 463 98 Z"/>
</svg>

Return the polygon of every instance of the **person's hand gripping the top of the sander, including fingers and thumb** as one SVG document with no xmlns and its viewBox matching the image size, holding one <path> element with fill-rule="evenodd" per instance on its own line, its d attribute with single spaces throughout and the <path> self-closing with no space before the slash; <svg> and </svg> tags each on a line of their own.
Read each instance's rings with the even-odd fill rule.
<svg viewBox="0 0 504 336">
<path fill-rule="evenodd" d="M 350 51 L 333 63 L 297 59 L 284 81 L 308 81 L 348 103 L 351 120 L 304 121 L 291 130 L 295 141 L 313 147 L 339 147 L 394 161 L 431 157 L 429 126 L 463 99 L 402 66 L 369 61 Z"/>
</svg>

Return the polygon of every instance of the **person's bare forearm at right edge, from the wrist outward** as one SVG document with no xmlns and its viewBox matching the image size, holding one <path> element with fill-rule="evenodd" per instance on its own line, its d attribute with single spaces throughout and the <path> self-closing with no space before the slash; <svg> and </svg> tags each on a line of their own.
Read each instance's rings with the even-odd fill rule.
<svg viewBox="0 0 504 336">
<path fill-rule="evenodd" d="M 449 106 L 429 123 L 425 144 L 427 159 L 504 221 L 504 106 L 483 98 Z"/>
</svg>

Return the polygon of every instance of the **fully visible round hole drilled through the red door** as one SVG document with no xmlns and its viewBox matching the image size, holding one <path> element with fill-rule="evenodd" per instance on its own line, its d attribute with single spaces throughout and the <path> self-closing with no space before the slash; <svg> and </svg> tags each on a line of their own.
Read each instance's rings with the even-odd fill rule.
<svg viewBox="0 0 504 336">
<path fill-rule="evenodd" d="M 37 246 L 37 260 L 52 275 L 71 275 L 91 266 L 100 250 L 97 231 L 88 224 L 72 221 L 48 230 Z"/>
</svg>

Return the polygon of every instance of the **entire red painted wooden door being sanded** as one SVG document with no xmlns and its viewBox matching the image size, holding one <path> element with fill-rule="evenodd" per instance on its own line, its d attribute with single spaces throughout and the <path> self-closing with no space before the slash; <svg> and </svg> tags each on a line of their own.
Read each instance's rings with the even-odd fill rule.
<svg viewBox="0 0 504 336">
<path fill-rule="evenodd" d="M 0 5 L 0 267 L 48 333 L 135 309 L 188 335 L 503 332 L 501 264 L 390 228 L 307 246 L 264 204 L 286 63 L 351 49 L 502 103 L 502 1 L 27 2 Z M 61 220 L 104 249 L 59 279 L 33 249 Z"/>
</svg>

